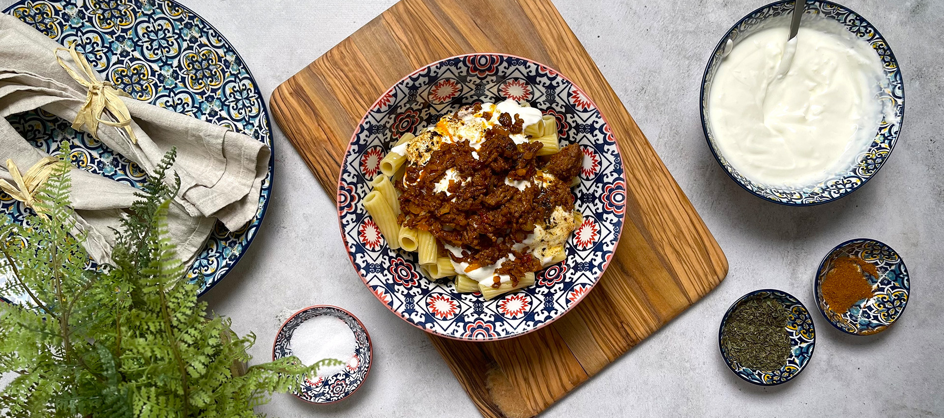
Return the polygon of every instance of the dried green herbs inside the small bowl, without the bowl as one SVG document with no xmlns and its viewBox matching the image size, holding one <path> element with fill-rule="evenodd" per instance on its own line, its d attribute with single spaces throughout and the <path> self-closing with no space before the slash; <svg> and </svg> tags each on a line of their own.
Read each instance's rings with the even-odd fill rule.
<svg viewBox="0 0 944 418">
<path fill-rule="evenodd" d="M 755 370 L 784 367 L 790 356 L 787 313 L 781 302 L 759 296 L 734 308 L 721 330 L 721 346 L 728 358 Z"/>
</svg>

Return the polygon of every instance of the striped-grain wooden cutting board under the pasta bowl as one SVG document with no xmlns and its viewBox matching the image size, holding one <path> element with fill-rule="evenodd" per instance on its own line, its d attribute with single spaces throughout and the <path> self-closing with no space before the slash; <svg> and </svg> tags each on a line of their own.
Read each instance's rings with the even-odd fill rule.
<svg viewBox="0 0 944 418">
<path fill-rule="evenodd" d="M 531 417 L 714 289 L 728 261 L 549 0 L 401 0 L 278 86 L 270 106 L 333 198 L 351 134 L 379 95 L 416 68 L 472 52 L 534 59 L 571 78 L 613 127 L 626 171 L 619 246 L 575 309 L 511 340 L 430 334 L 483 416 Z"/>
</svg>

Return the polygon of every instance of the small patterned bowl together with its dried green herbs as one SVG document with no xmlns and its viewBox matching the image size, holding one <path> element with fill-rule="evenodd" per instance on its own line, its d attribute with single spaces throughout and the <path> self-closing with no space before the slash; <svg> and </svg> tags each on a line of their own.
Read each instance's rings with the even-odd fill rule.
<svg viewBox="0 0 944 418">
<path fill-rule="evenodd" d="M 813 356 L 816 329 L 810 311 L 790 293 L 754 291 L 737 299 L 718 330 L 721 358 L 734 375 L 773 386 L 800 374 Z"/>
</svg>

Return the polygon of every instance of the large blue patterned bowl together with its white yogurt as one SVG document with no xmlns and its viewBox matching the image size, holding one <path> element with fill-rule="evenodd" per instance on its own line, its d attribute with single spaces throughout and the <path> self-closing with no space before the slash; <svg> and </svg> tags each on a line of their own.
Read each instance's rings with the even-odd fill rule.
<svg viewBox="0 0 944 418">
<path fill-rule="evenodd" d="M 701 80 L 701 125 L 718 164 L 748 192 L 791 206 L 845 196 L 898 140 L 902 74 L 882 34 L 849 8 L 807 0 L 758 8 L 718 42 Z"/>
</svg>

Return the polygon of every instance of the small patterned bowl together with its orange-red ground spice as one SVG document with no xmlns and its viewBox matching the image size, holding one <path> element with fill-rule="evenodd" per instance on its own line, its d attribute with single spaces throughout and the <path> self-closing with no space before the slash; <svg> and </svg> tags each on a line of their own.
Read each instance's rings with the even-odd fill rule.
<svg viewBox="0 0 944 418">
<path fill-rule="evenodd" d="M 884 331 L 908 303 L 911 285 L 902 257 L 885 242 L 842 242 L 819 263 L 813 294 L 819 312 L 840 331 Z"/>
</svg>

